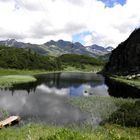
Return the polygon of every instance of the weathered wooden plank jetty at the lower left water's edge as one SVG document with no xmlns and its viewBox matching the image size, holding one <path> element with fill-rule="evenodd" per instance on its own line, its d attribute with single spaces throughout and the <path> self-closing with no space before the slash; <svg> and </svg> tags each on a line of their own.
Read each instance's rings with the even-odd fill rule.
<svg viewBox="0 0 140 140">
<path fill-rule="evenodd" d="M 3 128 L 4 126 L 7 126 L 7 125 L 11 125 L 15 122 L 19 122 L 20 121 L 20 117 L 19 116 L 10 116 L 9 118 L 3 120 L 3 121 L 0 121 L 0 128 Z"/>
</svg>

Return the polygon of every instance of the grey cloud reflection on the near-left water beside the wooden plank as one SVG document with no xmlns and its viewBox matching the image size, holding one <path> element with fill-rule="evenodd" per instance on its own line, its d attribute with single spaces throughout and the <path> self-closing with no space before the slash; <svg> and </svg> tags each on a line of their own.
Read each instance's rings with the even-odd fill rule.
<svg viewBox="0 0 140 140">
<path fill-rule="evenodd" d="M 22 120 L 68 124 L 80 123 L 85 119 L 84 113 L 68 104 L 66 97 L 46 94 L 38 90 L 29 95 L 24 90 L 10 91 L 0 94 L 0 108 L 7 110 L 10 115 L 19 115 Z"/>
</svg>

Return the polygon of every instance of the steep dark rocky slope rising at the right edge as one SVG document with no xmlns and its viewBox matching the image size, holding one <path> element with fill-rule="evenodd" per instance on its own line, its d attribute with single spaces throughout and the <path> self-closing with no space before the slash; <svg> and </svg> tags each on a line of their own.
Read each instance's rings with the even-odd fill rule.
<svg viewBox="0 0 140 140">
<path fill-rule="evenodd" d="M 112 51 L 104 72 L 118 75 L 140 73 L 140 28 Z"/>
</svg>

